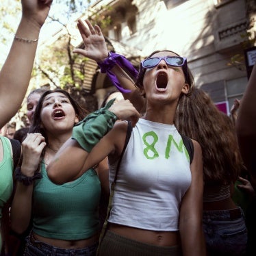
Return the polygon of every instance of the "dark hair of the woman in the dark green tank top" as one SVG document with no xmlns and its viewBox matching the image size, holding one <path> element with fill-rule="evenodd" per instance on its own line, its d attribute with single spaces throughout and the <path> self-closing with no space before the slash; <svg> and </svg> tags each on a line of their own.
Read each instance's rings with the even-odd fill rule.
<svg viewBox="0 0 256 256">
<path fill-rule="evenodd" d="M 71 105 L 73 105 L 75 114 L 77 114 L 79 121 L 84 119 L 88 115 L 88 111 L 85 110 L 83 107 L 81 107 L 71 97 L 71 95 L 68 92 L 66 92 L 65 90 L 55 89 L 55 90 L 47 90 L 46 92 L 44 92 L 42 94 L 42 96 L 40 97 L 40 100 L 38 101 L 38 105 L 36 106 L 36 110 L 34 112 L 34 117 L 33 117 L 33 123 L 31 125 L 31 127 L 29 128 L 29 133 L 41 133 L 42 136 L 44 136 L 45 142 L 47 144 L 48 144 L 47 132 L 42 127 L 42 120 L 41 120 L 40 114 L 41 114 L 42 104 L 44 103 L 45 97 L 47 97 L 47 95 L 52 94 L 54 92 L 60 92 L 60 93 L 64 94 L 69 99 L 69 101 L 71 101 Z M 41 155 L 42 158 L 44 157 L 44 153 L 45 153 L 45 147 L 44 147 L 44 151 L 42 151 L 42 155 Z"/>
</svg>

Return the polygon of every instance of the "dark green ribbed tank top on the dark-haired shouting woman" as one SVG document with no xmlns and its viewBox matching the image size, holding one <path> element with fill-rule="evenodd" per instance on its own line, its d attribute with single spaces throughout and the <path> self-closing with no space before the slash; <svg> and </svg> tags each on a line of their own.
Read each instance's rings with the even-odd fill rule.
<svg viewBox="0 0 256 256">
<path fill-rule="evenodd" d="M 75 181 L 56 185 L 41 164 L 42 179 L 35 181 L 33 231 L 46 238 L 84 240 L 99 231 L 101 183 L 90 169 Z"/>
</svg>

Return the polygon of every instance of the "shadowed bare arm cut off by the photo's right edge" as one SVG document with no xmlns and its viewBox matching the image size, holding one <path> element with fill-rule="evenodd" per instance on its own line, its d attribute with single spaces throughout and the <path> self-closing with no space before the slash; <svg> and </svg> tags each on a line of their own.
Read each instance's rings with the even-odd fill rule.
<svg viewBox="0 0 256 256">
<path fill-rule="evenodd" d="M 240 102 L 236 123 L 238 143 L 244 164 L 256 178 L 256 66 L 253 67 L 248 86 Z"/>
</svg>

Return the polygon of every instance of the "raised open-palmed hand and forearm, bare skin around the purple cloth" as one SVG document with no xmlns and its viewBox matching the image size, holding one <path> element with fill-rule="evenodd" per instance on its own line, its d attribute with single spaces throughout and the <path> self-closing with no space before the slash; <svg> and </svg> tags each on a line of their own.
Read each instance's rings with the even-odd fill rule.
<svg viewBox="0 0 256 256">
<path fill-rule="evenodd" d="M 101 28 L 98 25 L 92 26 L 88 20 L 86 20 L 85 23 L 84 21 L 81 21 L 81 19 L 77 23 L 81 37 L 84 40 L 85 49 L 75 49 L 74 53 L 79 53 L 89 57 L 98 63 L 104 62 L 104 60 L 108 57 L 108 51 Z M 116 75 L 120 85 L 124 89 L 131 91 L 123 93 L 123 97 L 125 99 L 129 99 L 129 101 L 133 103 L 134 107 L 136 107 L 136 110 L 140 112 L 142 107 L 144 107 L 145 99 L 140 94 L 138 88 L 134 86 L 136 77 L 131 77 L 128 75 L 118 64 L 113 66 L 111 71 L 114 73 L 114 75 Z"/>
</svg>

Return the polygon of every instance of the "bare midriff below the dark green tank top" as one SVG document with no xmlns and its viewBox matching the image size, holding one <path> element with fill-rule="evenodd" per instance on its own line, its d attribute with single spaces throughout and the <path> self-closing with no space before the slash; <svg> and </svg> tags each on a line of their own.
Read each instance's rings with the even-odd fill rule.
<svg viewBox="0 0 256 256">
<path fill-rule="evenodd" d="M 93 235 L 92 237 L 84 240 L 58 240 L 53 238 L 44 238 L 41 235 L 38 235 L 34 232 L 31 233 L 35 240 L 40 242 L 44 242 L 45 244 L 49 244 L 51 246 L 55 246 L 63 249 L 81 249 L 95 244 L 95 242 L 99 242 L 99 234 Z"/>
</svg>

